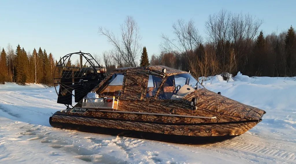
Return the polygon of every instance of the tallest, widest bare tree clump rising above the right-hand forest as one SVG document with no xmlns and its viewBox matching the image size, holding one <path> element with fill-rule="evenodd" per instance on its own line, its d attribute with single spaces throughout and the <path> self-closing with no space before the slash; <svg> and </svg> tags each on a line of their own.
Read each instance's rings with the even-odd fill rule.
<svg viewBox="0 0 296 164">
<path fill-rule="evenodd" d="M 205 32 L 211 43 L 215 44 L 218 49 L 216 54 L 221 60 L 222 66 L 228 65 L 226 59 L 229 60 L 229 54 L 234 48 L 237 55 L 236 60 L 239 61 L 241 71 L 247 65 L 252 43 L 258 34 L 258 29 L 262 25 L 263 20 L 259 20 L 250 14 L 243 15 L 233 14 L 226 10 L 209 15 L 205 22 Z M 231 43 L 234 47 L 229 47 Z"/>
</svg>

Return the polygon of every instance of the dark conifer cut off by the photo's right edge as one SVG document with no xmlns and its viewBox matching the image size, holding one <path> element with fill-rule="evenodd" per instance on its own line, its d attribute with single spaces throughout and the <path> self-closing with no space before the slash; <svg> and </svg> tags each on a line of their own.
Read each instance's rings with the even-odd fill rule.
<svg viewBox="0 0 296 164">
<path fill-rule="evenodd" d="M 296 75 L 296 40 L 295 30 L 291 26 L 285 38 L 285 51 L 287 61 L 287 72 L 290 76 Z"/>
</svg>

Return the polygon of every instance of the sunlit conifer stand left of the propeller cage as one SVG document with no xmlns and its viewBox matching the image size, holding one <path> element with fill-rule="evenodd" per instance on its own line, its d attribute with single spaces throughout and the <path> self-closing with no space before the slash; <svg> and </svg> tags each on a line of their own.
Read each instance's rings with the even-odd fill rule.
<svg viewBox="0 0 296 164">
<path fill-rule="evenodd" d="M 7 49 L 2 48 L 0 56 L 0 83 L 16 82 L 53 84 L 54 68 L 57 61 L 52 53 L 47 55 L 46 50 L 34 48 L 33 52 L 26 52 L 20 45 L 14 50 L 9 44 Z"/>
</svg>

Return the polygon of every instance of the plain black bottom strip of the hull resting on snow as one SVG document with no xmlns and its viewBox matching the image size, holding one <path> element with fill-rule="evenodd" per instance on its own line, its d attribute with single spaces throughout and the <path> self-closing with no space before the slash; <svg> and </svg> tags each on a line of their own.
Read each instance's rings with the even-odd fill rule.
<svg viewBox="0 0 296 164">
<path fill-rule="evenodd" d="M 52 117 L 49 118 L 49 124 L 56 128 L 72 129 L 78 131 L 85 131 L 91 133 L 108 134 L 115 136 L 134 137 L 141 139 L 151 139 L 156 141 L 172 142 L 179 144 L 209 144 L 221 142 L 226 139 L 232 139 L 239 135 L 225 135 L 225 136 L 182 136 L 163 133 L 152 133 L 146 131 L 135 131 L 126 129 L 104 128 L 99 126 L 87 126 L 81 124 L 68 124 L 62 122 L 53 122 Z"/>
</svg>

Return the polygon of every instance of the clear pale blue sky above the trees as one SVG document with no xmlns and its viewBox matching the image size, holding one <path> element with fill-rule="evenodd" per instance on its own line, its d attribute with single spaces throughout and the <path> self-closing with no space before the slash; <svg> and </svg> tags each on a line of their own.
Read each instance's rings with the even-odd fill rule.
<svg viewBox="0 0 296 164">
<path fill-rule="evenodd" d="M 250 13 L 264 20 L 260 27 L 268 34 L 296 27 L 296 1 L 1 1 L 0 46 L 20 44 L 26 51 L 46 49 L 55 58 L 83 51 L 101 54 L 111 49 L 98 27 L 119 34 L 127 15 L 138 22 L 141 44 L 149 56 L 160 53 L 162 33 L 171 36 L 178 19 L 195 21 L 205 36 L 209 14 L 226 9 Z"/>
</svg>

